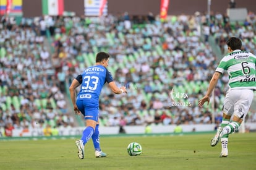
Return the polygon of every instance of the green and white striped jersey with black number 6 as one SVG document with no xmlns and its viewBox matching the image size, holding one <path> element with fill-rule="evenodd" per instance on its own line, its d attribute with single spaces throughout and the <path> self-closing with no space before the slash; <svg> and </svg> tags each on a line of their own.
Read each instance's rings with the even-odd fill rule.
<svg viewBox="0 0 256 170">
<path fill-rule="evenodd" d="M 247 51 L 235 50 L 221 59 L 215 70 L 229 74 L 229 88 L 250 88 L 256 90 L 256 56 Z"/>
</svg>

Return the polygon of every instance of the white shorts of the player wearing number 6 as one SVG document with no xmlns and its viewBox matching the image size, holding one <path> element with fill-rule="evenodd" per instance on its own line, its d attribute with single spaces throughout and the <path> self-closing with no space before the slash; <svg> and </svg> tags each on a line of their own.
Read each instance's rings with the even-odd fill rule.
<svg viewBox="0 0 256 170">
<path fill-rule="evenodd" d="M 254 99 L 254 90 L 231 89 L 224 98 L 223 113 L 244 119 Z"/>
</svg>

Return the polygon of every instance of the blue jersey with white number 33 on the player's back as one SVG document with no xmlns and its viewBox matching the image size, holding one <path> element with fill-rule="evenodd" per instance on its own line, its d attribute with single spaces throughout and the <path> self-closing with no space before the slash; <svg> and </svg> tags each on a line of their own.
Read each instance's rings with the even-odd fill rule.
<svg viewBox="0 0 256 170">
<path fill-rule="evenodd" d="M 90 99 L 98 105 L 101 89 L 106 82 L 113 82 L 111 73 L 104 66 L 97 65 L 88 67 L 76 78 L 81 84 L 77 100 Z"/>
</svg>

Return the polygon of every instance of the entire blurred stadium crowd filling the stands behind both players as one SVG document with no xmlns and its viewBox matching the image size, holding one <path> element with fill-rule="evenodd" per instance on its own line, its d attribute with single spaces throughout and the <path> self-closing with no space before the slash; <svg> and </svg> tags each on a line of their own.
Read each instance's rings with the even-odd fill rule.
<svg viewBox="0 0 256 170">
<path fill-rule="evenodd" d="M 24 19 L 20 25 L 2 22 L 0 127 L 73 127 L 65 87 L 95 63 L 98 51 L 111 54 L 108 69 L 129 91 L 123 98 L 103 88 L 101 125 L 211 124 L 212 113 L 215 123 L 221 122 L 227 74 L 215 89 L 214 106 L 197 107 L 218 64 L 209 36 L 223 54 L 228 36 L 239 36 L 243 48 L 255 53 L 255 15 L 232 26 L 218 12 L 211 14 L 210 25 L 198 12 L 172 16 L 168 22 L 152 15 L 138 22 L 127 13 L 100 19 L 47 16 Z M 247 122 L 256 122 L 254 112 Z"/>
</svg>

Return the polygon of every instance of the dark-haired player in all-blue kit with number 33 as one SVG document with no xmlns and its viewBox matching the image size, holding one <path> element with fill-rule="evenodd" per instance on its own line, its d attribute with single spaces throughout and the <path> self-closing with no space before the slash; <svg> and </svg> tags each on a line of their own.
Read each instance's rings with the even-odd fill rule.
<svg viewBox="0 0 256 170">
<path fill-rule="evenodd" d="M 93 140 L 96 158 L 106 157 L 106 153 L 103 153 L 100 148 L 100 134 L 98 130 L 99 97 L 103 85 L 107 82 L 111 90 L 116 94 L 127 93 L 126 87 L 117 87 L 111 73 L 106 69 L 108 61 L 108 53 L 97 53 L 95 66 L 85 69 L 82 74 L 72 81 L 69 87 L 75 114 L 80 115 L 82 113 L 86 122 L 86 128 L 83 130 L 81 139 L 75 141 L 80 159 L 84 158 L 84 146 L 90 138 Z M 80 85 L 80 91 L 76 96 L 75 88 Z"/>
</svg>

